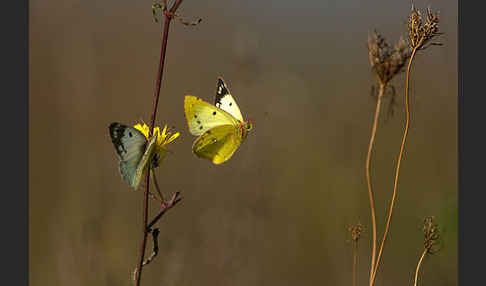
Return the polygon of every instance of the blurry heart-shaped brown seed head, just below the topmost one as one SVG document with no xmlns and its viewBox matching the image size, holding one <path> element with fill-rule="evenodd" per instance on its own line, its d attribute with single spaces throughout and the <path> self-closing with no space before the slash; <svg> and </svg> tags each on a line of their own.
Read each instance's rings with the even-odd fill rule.
<svg viewBox="0 0 486 286">
<path fill-rule="evenodd" d="M 403 38 L 391 47 L 382 35 L 374 31 L 368 36 L 368 56 L 378 81 L 386 85 L 405 66 L 410 49 Z"/>
</svg>

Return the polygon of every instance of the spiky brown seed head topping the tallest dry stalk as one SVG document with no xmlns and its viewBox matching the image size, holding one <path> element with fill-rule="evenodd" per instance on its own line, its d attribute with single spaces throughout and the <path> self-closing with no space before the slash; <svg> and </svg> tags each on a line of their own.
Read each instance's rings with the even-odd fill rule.
<svg viewBox="0 0 486 286">
<path fill-rule="evenodd" d="M 412 4 L 412 11 L 408 16 L 408 41 L 411 49 L 425 49 L 425 46 L 439 33 L 439 13 L 432 13 L 430 8 L 425 10 L 425 23 L 420 11 Z"/>
</svg>

